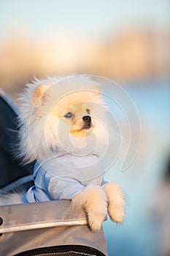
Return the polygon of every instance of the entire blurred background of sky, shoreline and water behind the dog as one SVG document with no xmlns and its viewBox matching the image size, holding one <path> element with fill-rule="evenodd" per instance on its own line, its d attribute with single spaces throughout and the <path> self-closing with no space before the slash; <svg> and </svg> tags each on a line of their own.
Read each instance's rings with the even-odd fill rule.
<svg viewBox="0 0 170 256">
<path fill-rule="evenodd" d="M 0 1 L 0 83 L 13 99 L 34 76 L 85 73 L 115 80 L 136 105 L 139 153 L 106 175 L 127 202 L 123 225 L 104 223 L 109 255 L 170 255 L 169 10 L 169 0 Z"/>
</svg>

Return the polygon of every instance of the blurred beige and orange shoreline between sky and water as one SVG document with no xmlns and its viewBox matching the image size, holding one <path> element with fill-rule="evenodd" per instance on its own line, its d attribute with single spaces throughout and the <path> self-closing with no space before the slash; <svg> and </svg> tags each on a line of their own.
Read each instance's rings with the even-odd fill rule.
<svg viewBox="0 0 170 256">
<path fill-rule="evenodd" d="M 26 31 L 16 31 L 0 43 L 1 87 L 14 95 L 34 76 L 82 73 L 124 84 L 166 80 L 170 78 L 169 45 L 168 29 L 130 28 L 100 40 L 70 34 L 33 40 Z"/>
</svg>

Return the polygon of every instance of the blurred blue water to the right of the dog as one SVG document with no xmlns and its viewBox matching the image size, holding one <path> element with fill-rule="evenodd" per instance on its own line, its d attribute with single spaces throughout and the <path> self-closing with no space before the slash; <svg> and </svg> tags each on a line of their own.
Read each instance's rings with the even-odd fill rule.
<svg viewBox="0 0 170 256">
<path fill-rule="evenodd" d="M 104 223 L 109 255 L 161 255 L 159 225 L 152 217 L 150 203 L 170 157 L 169 84 L 168 80 L 150 81 L 125 88 L 139 112 L 142 146 L 128 170 L 121 172 L 118 162 L 106 173 L 107 180 L 123 187 L 126 200 L 123 225 L 110 220 Z"/>
</svg>

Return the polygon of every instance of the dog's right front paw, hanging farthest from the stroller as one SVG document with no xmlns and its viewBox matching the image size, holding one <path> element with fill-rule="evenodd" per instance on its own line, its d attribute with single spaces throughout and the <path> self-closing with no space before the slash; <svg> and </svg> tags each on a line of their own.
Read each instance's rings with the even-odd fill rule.
<svg viewBox="0 0 170 256">
<path fill-rule="evenodd" d="M 110 182 L 104 185 L 104 192 L 108 200 L 108 213 L 110 219 L 116 223 L 122 223 L 125 217 L 123 192 L 119 185 Z"/>
</svg>

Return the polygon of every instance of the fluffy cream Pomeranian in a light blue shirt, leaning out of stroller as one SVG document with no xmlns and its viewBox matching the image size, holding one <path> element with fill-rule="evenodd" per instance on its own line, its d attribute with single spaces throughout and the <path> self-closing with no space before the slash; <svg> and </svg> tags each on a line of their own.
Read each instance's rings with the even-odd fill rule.
<svg viewBox="0 0 170 256">
<path fill-rule="evenodd" d="M 22 198 L 9 195 L 10 203 L 71 199 L 86 212 L 93 231 L 100 230 L 107 212 L 112 221 L 123 222 L 123 192 L 104 181 L 106 110 L 100 86 L 86 75 L 28 84 L 21 98 L 19 148 L 24 162 L 36 159 L 34 186 Z"/>
</svg>

